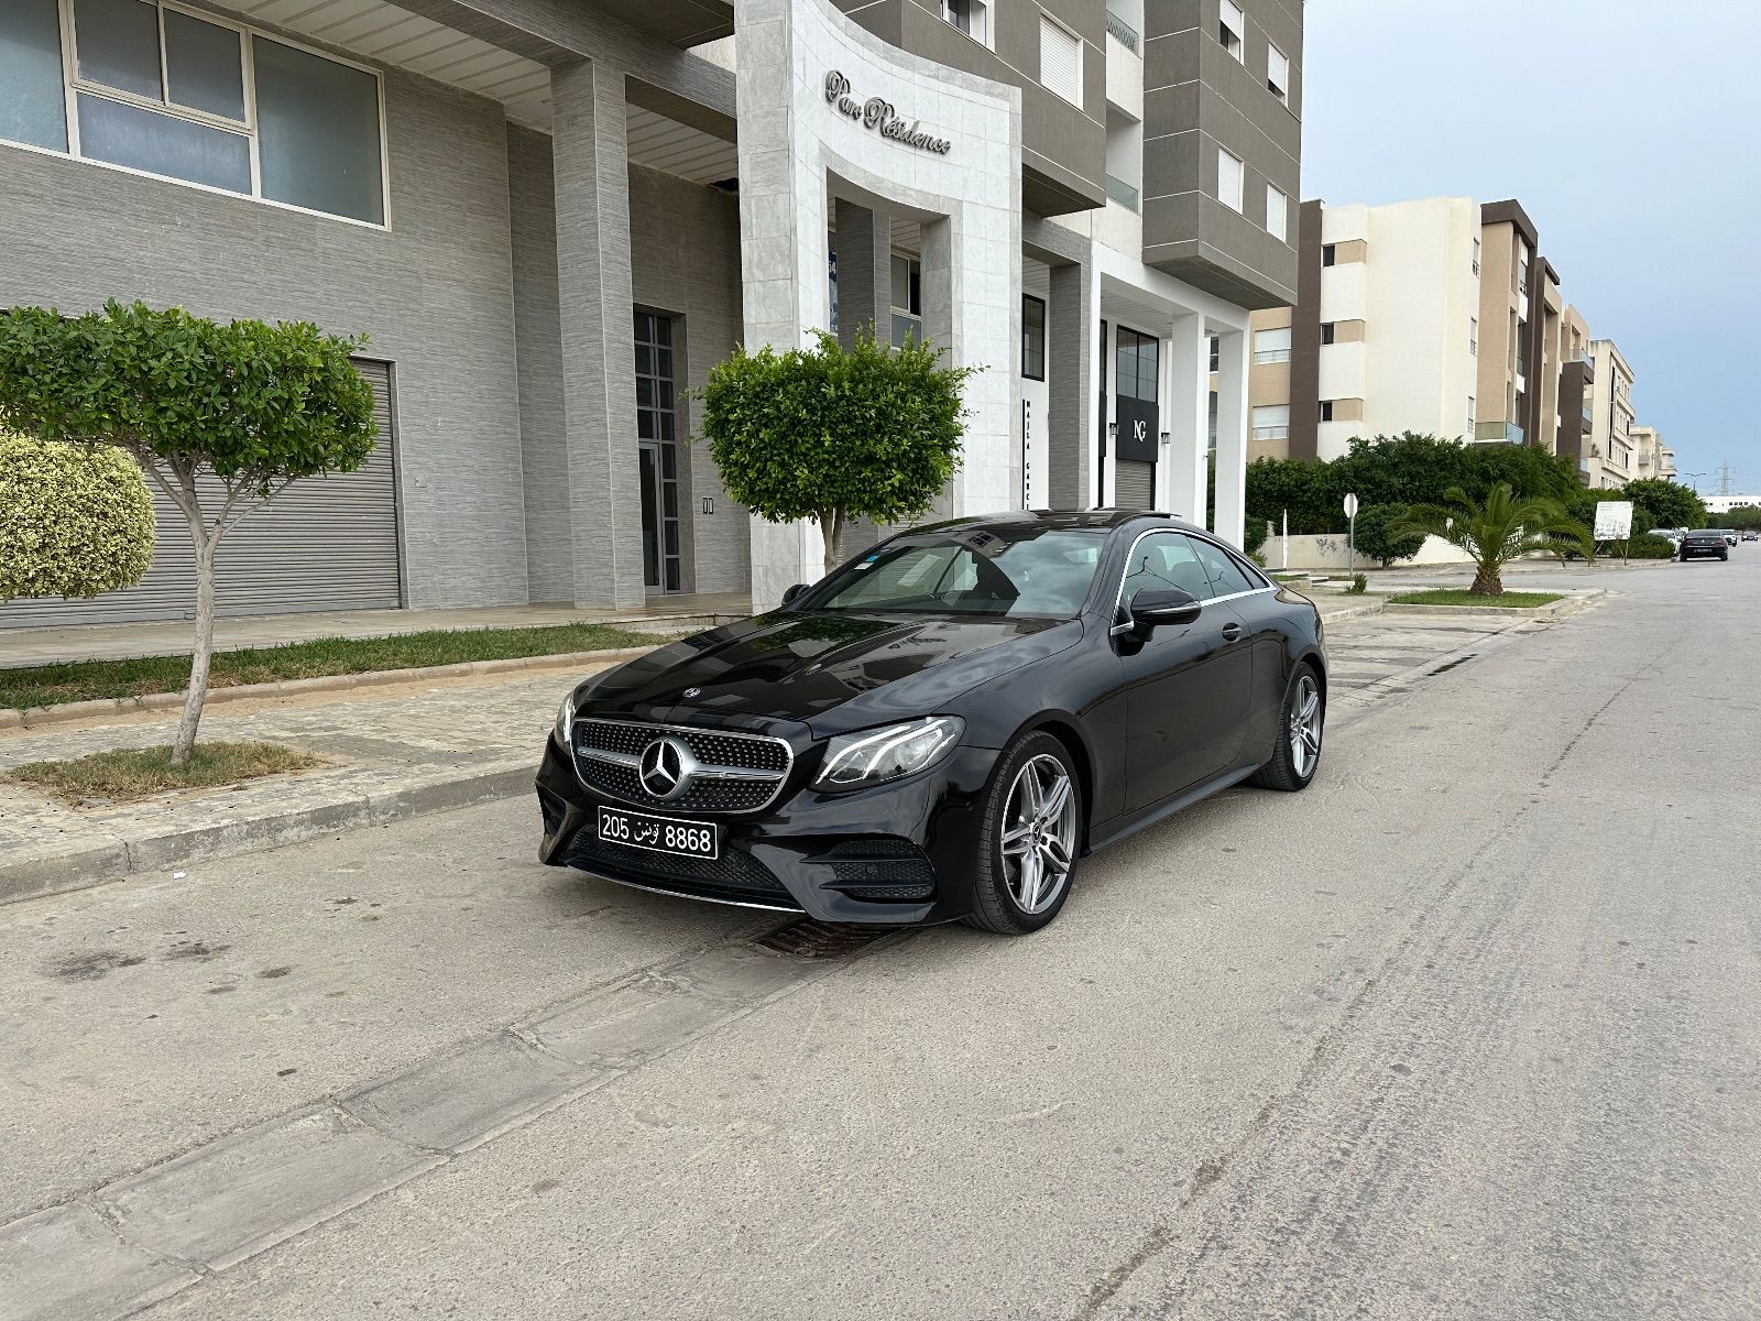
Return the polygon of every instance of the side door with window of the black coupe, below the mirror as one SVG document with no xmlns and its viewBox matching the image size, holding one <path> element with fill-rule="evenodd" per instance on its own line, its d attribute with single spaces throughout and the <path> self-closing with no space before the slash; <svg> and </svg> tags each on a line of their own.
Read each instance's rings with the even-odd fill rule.
<svg viewBox="0 0 1761 1321">
<path fill-rule="evenodd" d="M 1138 592 L 1169 587 L 1206 602 L 1192 624 L 1162 625 L 1148 638 L 1120 627 Z M 1132 544 L 1113 634 L 1125 678 L 1127 812 L 1220 775 L 1242 754 L 1252 650 L 1242 616 L 1215 595 L 1190 537 L 1146 532 Z"/>
</svg>

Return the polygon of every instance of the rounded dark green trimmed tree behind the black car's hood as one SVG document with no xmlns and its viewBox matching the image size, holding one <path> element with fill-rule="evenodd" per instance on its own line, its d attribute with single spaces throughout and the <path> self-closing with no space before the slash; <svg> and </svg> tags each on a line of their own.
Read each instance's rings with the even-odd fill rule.
<svg viewBox="0 0 1761 1321">
<path fill-rule="evenodd" d="M 962 391 L 979 368 L 942 366 L 940 349 L 880 343 L 734 356 L 699 391 L 703 439 L 727 493 L 759 518 L 812 518 L 826 569 L 852 518 L 903 523 L 930 511 L 960 461 Z"/>
</svg>

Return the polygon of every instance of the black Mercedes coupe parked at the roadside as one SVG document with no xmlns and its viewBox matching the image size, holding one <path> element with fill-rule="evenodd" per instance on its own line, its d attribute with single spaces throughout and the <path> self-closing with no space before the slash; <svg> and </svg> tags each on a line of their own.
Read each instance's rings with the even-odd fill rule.
<svg viewBox="0 0 1761 1321">
<path fill-rule="evenodd" d="M 893 537 L 578 685 L 542 861 L 824 921 L 1051 921 L 1078 860 L 1321 759 L 1321 615 L 1166 514 Z"/>
</svg>

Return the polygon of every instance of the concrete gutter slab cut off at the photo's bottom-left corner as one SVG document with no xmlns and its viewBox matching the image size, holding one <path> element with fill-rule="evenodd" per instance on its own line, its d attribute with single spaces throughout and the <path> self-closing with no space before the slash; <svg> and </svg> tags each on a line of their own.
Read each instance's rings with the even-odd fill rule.
<svg viewBox="0 0 1761 1321">
<path fill-rule="evenodd" d="M 122 1316 L 197 1279 L 125 1242 L 79 1203 L 0 1226 L 0 1321 Z"/>
</svg>

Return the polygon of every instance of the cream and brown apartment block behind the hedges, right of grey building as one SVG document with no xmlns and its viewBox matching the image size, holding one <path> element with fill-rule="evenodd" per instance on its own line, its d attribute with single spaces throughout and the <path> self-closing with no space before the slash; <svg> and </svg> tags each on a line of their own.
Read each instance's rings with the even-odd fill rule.
<svg viewBox="0 0 1761 1321">
<path fill-rule="evenodd" d="M 1400 432 L 1553 447 L 1567 317 L 1518 203 L 1308 201 L 1301 217 L 1298 301 L 1254 314 L 1256 458 Z"/>
</svg>

